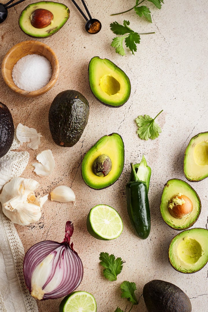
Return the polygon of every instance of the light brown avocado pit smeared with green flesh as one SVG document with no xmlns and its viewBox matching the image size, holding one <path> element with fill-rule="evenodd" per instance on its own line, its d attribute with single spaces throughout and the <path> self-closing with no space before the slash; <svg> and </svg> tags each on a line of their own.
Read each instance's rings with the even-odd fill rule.
<svg viewBox="0 0 208 312">
<path fill-rule="evenodd" d="M 170 214 L 172 217 L 177 219 L 186 217 L 192 209 L 193 204 L 191 200 L 187 196 L 180 193 L 172 197 L 168 205 Z"/>
</svg>

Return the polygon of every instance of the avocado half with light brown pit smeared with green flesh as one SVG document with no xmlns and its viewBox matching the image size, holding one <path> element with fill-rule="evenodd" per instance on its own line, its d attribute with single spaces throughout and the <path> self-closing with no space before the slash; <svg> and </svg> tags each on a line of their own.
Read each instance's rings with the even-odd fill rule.
<svg viewBox="0 0 208 312">
<path fill-rule="evenodd" d="M 196 191 L 180 179 L 168 180 L 160 203 L 163 220 L 175 230 L 191 227 L 201 212 L 201 200 Z"/>
</svg>

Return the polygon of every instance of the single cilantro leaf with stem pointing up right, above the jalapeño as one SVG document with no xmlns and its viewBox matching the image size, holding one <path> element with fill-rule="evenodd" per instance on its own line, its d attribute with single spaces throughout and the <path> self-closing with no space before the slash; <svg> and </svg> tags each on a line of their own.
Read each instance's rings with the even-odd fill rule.
<svg viewBox="0 0 208 312">
<path fill-rule="evenodd" d="M 160 113 L 162 113 L 163 110 L 161 110 Z M 157 116 L 159 115 L 157 114 Z M 135 121 L 138 125 L 137 134 L 140 139 L 142 140 L 148 140 L 148 139 L 156 139 L 159 136 L 159 133 L 161 133 L 160 126 L 155 122 L 155 119 L 157 116 L 152 119 L 149 115 L 139 115 Z"/>
</svg>

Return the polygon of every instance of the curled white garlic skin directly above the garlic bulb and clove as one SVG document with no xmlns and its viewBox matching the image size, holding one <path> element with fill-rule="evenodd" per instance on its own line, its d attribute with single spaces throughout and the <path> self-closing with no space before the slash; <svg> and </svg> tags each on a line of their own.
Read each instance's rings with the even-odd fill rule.
<svg viewBox="0 0 208 312">
<path fill-rule="evenodd" d="M 33 171 L 37 175 L 47 176 L 53 171 L 55 167 L 55 160 L 50 149 L 39 153 L 36 159 L 39 161 L 39 163 L 33 163 L 32 165 L 35 167 Z"/>
</svg>

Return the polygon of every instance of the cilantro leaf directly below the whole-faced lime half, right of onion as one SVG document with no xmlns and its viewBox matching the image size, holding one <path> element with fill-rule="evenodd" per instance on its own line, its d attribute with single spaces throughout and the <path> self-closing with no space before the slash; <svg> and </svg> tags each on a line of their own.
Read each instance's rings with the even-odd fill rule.
<svg viewBox="0 0 208 312">
<path fill-rule="evenodd" d="M 101 252 L 99 256 L 101 266 L 104 266 L 103 274 L 110 281 L 117 280 L 117 275 L 121 273 L 123 261 L 121 258 L 115 259 L 114 255 Z"/>
</svg>

